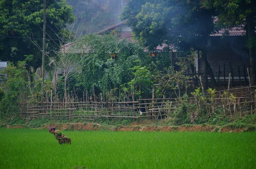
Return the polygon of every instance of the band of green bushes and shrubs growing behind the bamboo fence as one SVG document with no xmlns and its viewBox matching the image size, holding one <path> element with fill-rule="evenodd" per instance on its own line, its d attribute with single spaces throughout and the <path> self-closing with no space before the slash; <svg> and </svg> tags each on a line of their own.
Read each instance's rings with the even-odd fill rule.
<svg viewBox="0 0 256 169">
<path fill-rule="evenodd" d="M 76 51 L 78 48 L 87 52 L 56 52 L 55 58 L 50 58 L 54 62 L 47 66 L 49 78 L 44 85 L 45 98 L 41 98 L 41 79 L 37 79 L 35 71 L 26 70 L 30 60 L 18 62 L 17 68 L 9 65 L 4 70 L 9 75 L 8 81 L 3 84 L 4 89 L 9 91 L 3 90 L 0 105 L 12 105 L 17 110 L 19 101 L 26 99 L 38 103 L 42 99 L 46 100 L 51 90 L 54 101 L 64 98 L 63 101 L 67 102 L 67 96 L 80 100 L 86 90 L 93 96 L 93 100 L 98 100 L 99 96 L 107 101 L 122 101 L 127 98 L 134 100 L 151 97 L 151 85 L 154 83 L 160 84 L 156 87 L 156 97 L 161 97 L 176 89 L 177 82 L 182 84 L 186 80 L 185 62 L 179 62 L 180 71 L 175 71 L 170 66 L 168 52 L 151 57 L 139 43 L 127 39 L 119 41 L 113 34 L 103 37 L 90 34 L 73 42 L 69 51 Z M 60 69 L 64 70 L 62 76 L 58 76 Z M 74 93 L 78 94 L 74 96 Z M 10 97 L 13 102 L 7 101 Z M 1 111 L 2 114 L 9 112 L 5 108 Z"/>
</svg>

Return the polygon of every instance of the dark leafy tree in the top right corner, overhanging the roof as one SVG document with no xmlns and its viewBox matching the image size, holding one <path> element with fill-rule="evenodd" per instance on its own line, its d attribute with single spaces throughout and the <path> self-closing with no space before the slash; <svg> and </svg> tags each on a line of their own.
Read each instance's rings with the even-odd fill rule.
<svg viewBox="0 0 256 169">
<path fill-rule="evenodd" d="M 218 28 L 244 28 L 247 34 L 247 48 L 250 57 L 250 79 L 256 78 L 256 1 L 255 0 L 205 0 L 204 5 L 217 11 Z"/>
</svg>

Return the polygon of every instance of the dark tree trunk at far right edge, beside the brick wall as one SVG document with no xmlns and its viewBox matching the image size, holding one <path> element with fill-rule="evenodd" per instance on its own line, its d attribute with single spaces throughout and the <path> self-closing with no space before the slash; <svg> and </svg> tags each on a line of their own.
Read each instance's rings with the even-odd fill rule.
<svg viewBox="0 0 256 169">
<path fill-rule="evenodd" d="M 248 34 L 248 40 L 250 40 L 253 37 L 254 34 L 254 24 L 253 20 L 251 18 L 247 18 L 247 34 Z M 255 47 L 249 46 L 249 58 L 250 58 L 250 81 L 251 85 L 255 85 Z"/>
</svg>

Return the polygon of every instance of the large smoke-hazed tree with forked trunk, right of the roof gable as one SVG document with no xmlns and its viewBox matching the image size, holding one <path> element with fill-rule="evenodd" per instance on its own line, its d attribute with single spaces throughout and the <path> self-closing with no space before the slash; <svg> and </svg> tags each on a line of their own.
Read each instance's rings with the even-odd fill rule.
<svg viewBox="0 0 256 169">
<path fill-rule="evenodd" d="M 216 86 L 207 62 L 207 37 L 214 32 L 214 15 L 214 10 L 204 8 L 198 0 L 130 0 L 121 18 L 128 20 L 136 37 L 151 51 L 163 44 L 175 45 L 179 51 L 191 47 L 202 51 L 204 83 L 209 74 Z"/>
</svg>

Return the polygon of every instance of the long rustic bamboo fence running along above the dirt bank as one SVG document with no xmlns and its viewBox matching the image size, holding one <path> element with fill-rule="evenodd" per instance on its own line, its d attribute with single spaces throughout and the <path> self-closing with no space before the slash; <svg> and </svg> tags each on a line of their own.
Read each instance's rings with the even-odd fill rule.
<svg viewBox="0 0 256 169">
<path fill-rule="evenodd" d="M 139 99 L 127 102 L 43 102 L 20 104 L 20 117 L 25 119 L 51 118 L 95 120 L 96 118 L 145 118 L 159 120 L 175 117 L 181 105 L 188 107 L 187 112 L 197 115 L 204 112 L 243 116 L 256 114 L 255 87 L 216 91 L 212 96 L 203 93 L 202 96 L 186 98 Z M 195 118 L 195 117 L 194 117 Z M 193 117 L 192 117 L 193 119 Z M 193 120 L 192 120 L 193 121 Z"/>
</svg>

